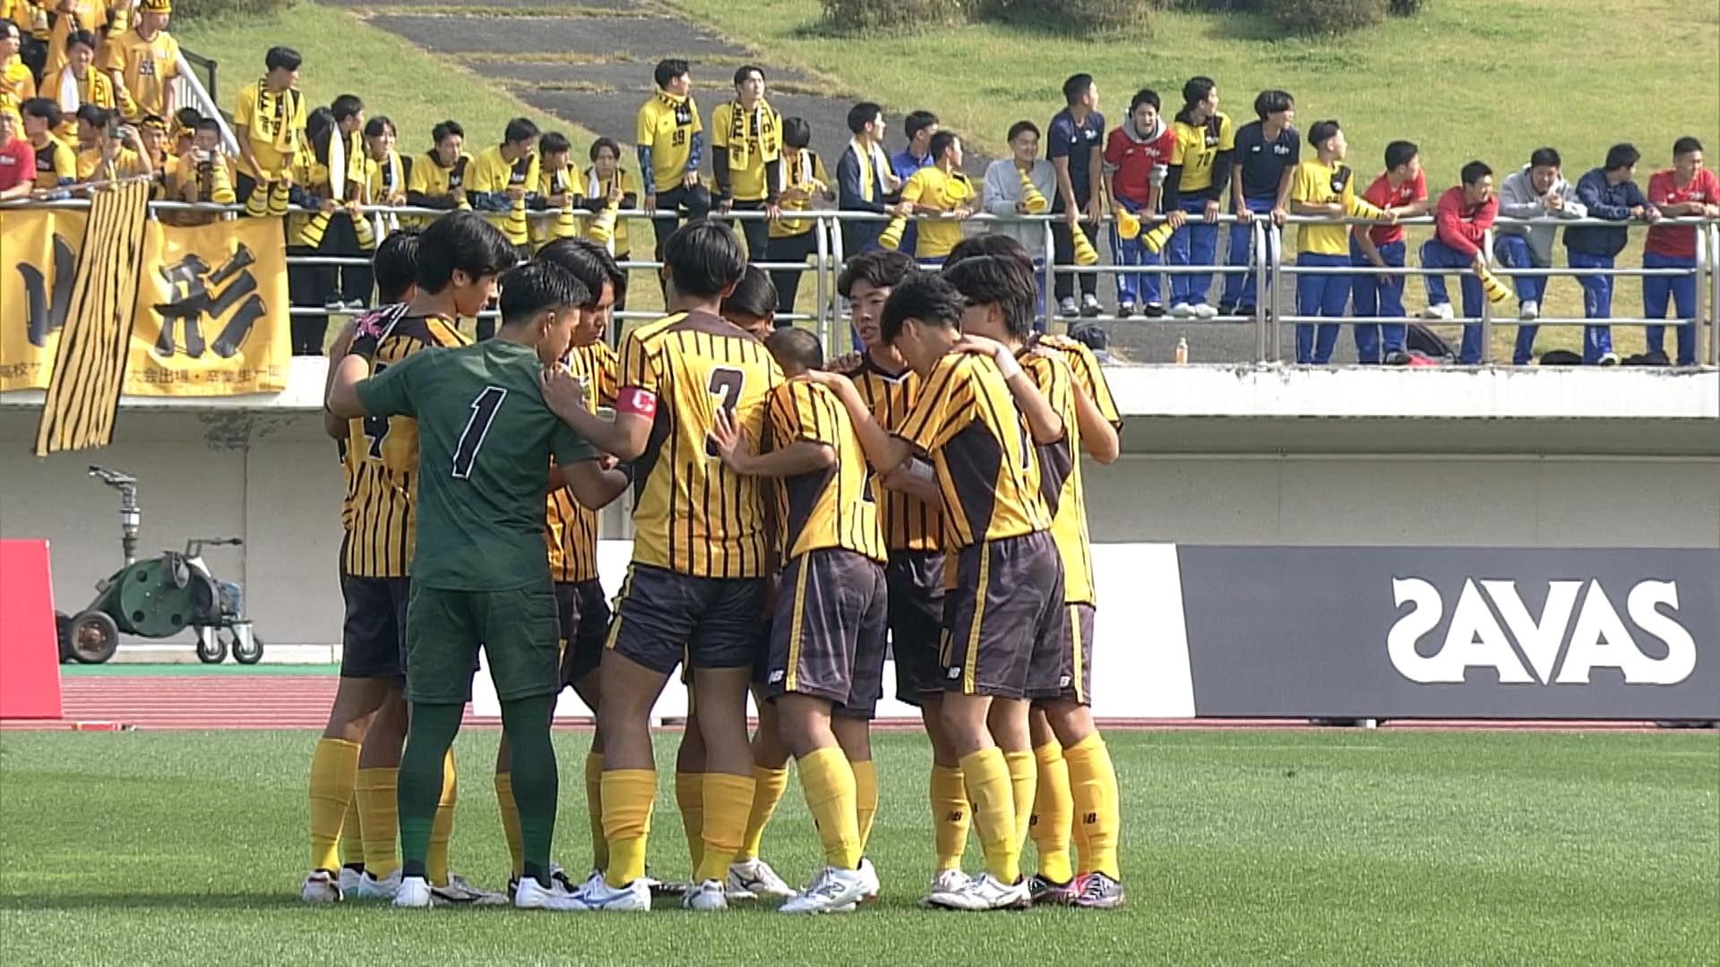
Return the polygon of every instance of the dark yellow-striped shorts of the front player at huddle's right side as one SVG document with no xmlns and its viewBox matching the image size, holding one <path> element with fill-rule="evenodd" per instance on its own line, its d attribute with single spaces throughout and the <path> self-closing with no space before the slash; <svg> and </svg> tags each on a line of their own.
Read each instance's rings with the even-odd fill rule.
<svg viewBox="0 0 1720 967">
<path fill-rule="evenodd" d="M 944 607 L 944 692 L 1027 699 L 1056 687 L 1063 559 L 1046 532 L 963 547 Z"/>
</svg>

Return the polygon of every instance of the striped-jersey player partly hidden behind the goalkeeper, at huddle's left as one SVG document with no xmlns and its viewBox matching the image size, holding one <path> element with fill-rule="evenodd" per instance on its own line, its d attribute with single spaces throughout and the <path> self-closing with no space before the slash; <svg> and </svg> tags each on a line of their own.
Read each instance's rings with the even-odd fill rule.
<svg viewBox="0 0 1720 967">
<path fill-rule="evenodd" d="M 401 313 L 373 318 L 356 330 L 351 351 L 330 363 L 337 379 L 347 384 L 365 375 L 382 373 L 430 348 L 458 348 L 468 341 L 456 329 L 461 317 L 476 315 L 495 291 L 502 270 L 513 265 L 513 251 L 492 225 L 471 213 L 456 213 L 432 222 L 418 239 L 416 291 Z M 349 389 L 349 385 L 347 385 Z M 334 410 L 337 416 L 347 416 Z M 347 611 L 353 637 L 363 637 L 365 652 L 384 650 L 394 642 L 404 647 L 402 621 L 408 607 L 411 563 L 416 547 L 418 509 L 415 489 L 420 482 L 420 428 L 411 415 L 375 415 L 351 420 L 347 454 L 354 461 L 353 539 L 342 564 L 354 582 L 347 583 Z M 402 652 L 404 654 L 404 652 Z M 359 666 L 368 676 L 389 674 L 387 664 Z M 399 847 L 399 769 L 406 721 L 399 709 L 384 705 L 372 733 L 359 748 L 354 795 L 365 833 L 365 874 L 358 896 L 392 898 L 401 884 Z M 452 807 L 458 786 L 452 761 L 444 764 L 444 807 L 430 829 L 430 871 L 433 884 L 445 883 L 447 841 L 452 835 Z"/>
</svg>

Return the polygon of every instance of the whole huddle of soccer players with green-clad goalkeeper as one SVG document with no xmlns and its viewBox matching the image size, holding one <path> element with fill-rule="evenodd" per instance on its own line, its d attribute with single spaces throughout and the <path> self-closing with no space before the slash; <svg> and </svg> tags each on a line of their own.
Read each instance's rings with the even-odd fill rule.
<svg viewBox="0 0 1720 967">
<path fill-rule="evenodd" d="M 390 270 L 402 248 L 409 274 Z M 925 903 L 1120 905 L 1080 482 L 1082 449 L 1116 458 L 1120 418 L 1084 346 L 1034 334 L 1027 251 L 968 239 L 936 275 L 900 253 L 855 256 L 839 289 L 865 351 L 832 363 L 810 332 L 772 330 L 769 277 L 716 222 L 667 239 L 669 315 L 628 332 L 619 358 L 602 337 L 624 275 L 602 248 L 566 239 L 506 268 L 511 256 L 471 213 L 390 237 L 377 275 L 397 305 L 356 323 L 330 373 L 347 623 L 301 895 L 507 902 L 447 869 L 449 748 L 482 644 L 516 907 L 650 908 L 650 712 L 676 669 L 690 690 L 683 903 L 772 895 L 822 914 L 874 898 L 869 731 L 886 652 L 932 745 Z M 497 336 L 466 346 L 454 320 L 497 287 Z M 611 618 L 595 514 L 628 487 L 633 563 Z M 568 685 L 597 712 L 583 884 L 550 862 L 550 716 Z M 759 859 L 789 757 L 824 848 L 800 891 Z M 961 871 L 970 824 L 975 876 Z"/>
</svg>

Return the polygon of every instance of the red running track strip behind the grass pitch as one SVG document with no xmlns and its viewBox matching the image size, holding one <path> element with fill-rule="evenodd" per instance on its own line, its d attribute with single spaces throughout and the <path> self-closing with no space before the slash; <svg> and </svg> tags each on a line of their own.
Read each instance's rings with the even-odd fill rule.
<svg viewBox="0 0 1720 967">
<path fill-rule="evenodd" d="M 339 678 L 332 674 L 139 674 L 62 678 L 65 718 L 60 721 L 0 721 L 3 730 L 320 730 Z M 466 707 L 466 724 L 497 726 L 499 719 L 476 718 Z M 585 723 L 580 723 L 585 724 Z M 569 723 L 569 728 L 580 728 Z M 881 723 L 884 724 L 884 723 Z M 1309 728 L 1302 719 L 1154 719 L 1099 721 L 1101 728 L 1214 730 L 1214 728 Z M 918 728 L 918 723 L 888 723 L 884 728 Z M 1558 721 L 1393 721 L 1388 728 L 1443 730 L 1639 730 L 1649 723 L 1558 723 Z"/>
</svg>

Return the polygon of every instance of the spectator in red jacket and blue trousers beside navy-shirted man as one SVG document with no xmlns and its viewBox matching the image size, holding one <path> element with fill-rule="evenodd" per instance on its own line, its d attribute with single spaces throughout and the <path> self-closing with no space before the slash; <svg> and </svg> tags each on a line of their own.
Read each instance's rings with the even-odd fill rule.
<svg viewBox="0 0 1720 967">
<path fill-rule="evenodd" d="M 1125 239 L 1116 224 L 1111 225 L 1111 251 L 1121 265 L 1158 265 L 1158 251 L 1149 251 L 1142 236 L 1151 229 L 1159 212 L 1164 177 L 1170 172 L 1176 132 L 1159 115 L 1159 95 L 1139 89 L 1128 102 L 1128 117 L 1111 129 L 1104 143 L 1104 182 L 1111 201 L 1120 212 L 1140 217 L 1142 231 Z M 1164 315 L 1159 301 L 1158 272 L 1116 274 L 1116 315 L 1128 318 L 1140 308 L 1149 317 Z"/>
</svg>

